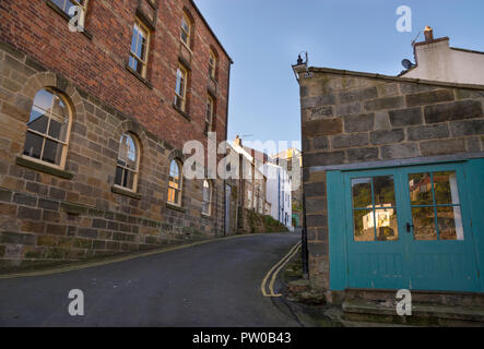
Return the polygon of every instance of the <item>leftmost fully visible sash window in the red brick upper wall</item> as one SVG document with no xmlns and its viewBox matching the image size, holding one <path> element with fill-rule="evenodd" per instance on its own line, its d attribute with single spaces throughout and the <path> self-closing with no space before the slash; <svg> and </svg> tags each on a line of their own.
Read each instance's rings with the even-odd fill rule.
<svg viewBox="0 0 484 349">
<path fill-rule="evenodd" d="M 139 21 L 134 23 L 129 67 L 141 76 L 146 76 L 150 31 Z"/>
</svg>

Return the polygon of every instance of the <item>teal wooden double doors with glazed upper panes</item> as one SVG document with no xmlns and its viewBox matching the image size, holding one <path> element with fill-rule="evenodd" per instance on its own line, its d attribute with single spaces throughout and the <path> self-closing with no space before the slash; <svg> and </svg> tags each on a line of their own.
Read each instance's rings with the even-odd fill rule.
<svg viewBox="0 0 484 349">
<path fill-rule="evenodd" d="M 460 164 L 343 174 L 351 288 L 480 291 Z"/>
</svg>

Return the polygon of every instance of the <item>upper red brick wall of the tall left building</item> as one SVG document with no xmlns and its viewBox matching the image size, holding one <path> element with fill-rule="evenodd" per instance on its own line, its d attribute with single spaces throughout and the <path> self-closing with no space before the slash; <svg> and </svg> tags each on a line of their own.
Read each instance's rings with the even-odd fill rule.
<svg viewBox="0 0 484 349">
<path fill-rule="evenodd" d="M 2 0 L 0 39 L 60 73 L 101 101 L 138 119 L 149 131 L 181 148 L 187 140 L 203 141 L 208 93 L 209 50 L 219 56 L 216 131 L 225 137 L 231 60 L 190 0 L 158 2 L 151 34 L 146 80 L 153 89 L 127 69 L 132 26 L 139 0 L 91 0 L 85 28 L 92 39 L 71 33 L 68 22 L 46 0 Z M 193 19 L 189 91 L 191 122 L 173 108 L 184 8 Z"/>
</svg>

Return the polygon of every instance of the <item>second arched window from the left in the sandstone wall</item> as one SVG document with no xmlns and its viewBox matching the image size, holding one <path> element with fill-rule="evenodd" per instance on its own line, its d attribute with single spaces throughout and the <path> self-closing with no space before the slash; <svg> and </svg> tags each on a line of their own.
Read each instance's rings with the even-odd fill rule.
<svg viewBox="0 0 484 349">
<path fill-rule="evenodd" d="M 115 184 L 135 192 L 139 166 L 140 154 L 138 142 L 131 134 L 123 133 L 119 140 Z"/>
</svg>

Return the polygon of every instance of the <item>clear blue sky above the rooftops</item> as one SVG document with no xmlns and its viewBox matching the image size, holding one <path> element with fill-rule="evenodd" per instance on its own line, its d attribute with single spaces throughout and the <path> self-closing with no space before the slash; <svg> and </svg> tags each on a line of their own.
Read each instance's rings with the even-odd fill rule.
<svg viewBox="0 0 484 349">
<path fill-rule="evenodd" d="M 292 64 L 397 75 L 426 25 L 450 46 L 484 51 L 483 0 L 194 0 L 234 60 L 228 139 L 300 142 L 299 89 Z M 397 9 L 412 10 L 400 33 Z M 484 69 L 484 68 L 483 68 Z M 257 147 L 256 147 L 257 148 Z"/>
</svg>

